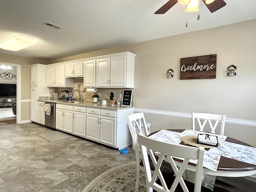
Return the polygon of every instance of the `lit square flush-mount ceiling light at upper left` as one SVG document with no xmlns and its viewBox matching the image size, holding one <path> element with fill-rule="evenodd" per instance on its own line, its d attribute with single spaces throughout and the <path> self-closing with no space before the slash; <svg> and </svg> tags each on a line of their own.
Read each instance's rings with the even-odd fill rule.
<svg viewBox="0 0 256 192">
<path fill-rule="evenodd" d="M 23 35 L 15 35 L 12 38 L 0 43 L 0 48 L 18 51 L 37 43 L 37 40 Z"/>
</svg>

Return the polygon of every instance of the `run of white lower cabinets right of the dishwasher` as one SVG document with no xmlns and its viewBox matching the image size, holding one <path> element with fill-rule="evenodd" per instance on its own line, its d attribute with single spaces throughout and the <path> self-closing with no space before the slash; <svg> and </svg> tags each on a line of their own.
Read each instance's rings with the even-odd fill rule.
<svg viewBox="0 0 256 192">
<path fill-rule="evenodd" d="M 56 129 L 120 150 L 132 144 L 126 121 L 132 113 L 132 108 L 103 110 L 56 104 Z"/>
</svg>

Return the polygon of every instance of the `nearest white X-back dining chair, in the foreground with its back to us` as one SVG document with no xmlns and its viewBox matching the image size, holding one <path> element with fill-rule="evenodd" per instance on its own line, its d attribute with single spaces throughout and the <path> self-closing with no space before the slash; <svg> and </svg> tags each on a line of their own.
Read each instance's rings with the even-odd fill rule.
<svg viewBox="0 0 256 192">
<path fill-rule="evenodd" d="M 212 192 L 209 188 L 201 185 L 204 148 L 161 142 L 145 137 L 143 134 L 138 134 L 138 142 L 142 152 L 144 172 L 146 174 L 147 192 L 152 192 L 153 189 L 157 192 Z M 153 151 L 159 153 L 158 160 L 155 158 Z M 150 170 L 148 153 L 150 158 L 152 158 L 152 161 L 156 164 L 153 173 Z M 175 161 L 174 157 L 182 158 L 183 162 Z M 168 159 L 168 162 L 174 170 L 175 176 L 163 173 L 159 169 L 164 158 Z M 188 182 L 182 178 L 190 159 L 197 160 L 194 183 Z"/>
</svg>

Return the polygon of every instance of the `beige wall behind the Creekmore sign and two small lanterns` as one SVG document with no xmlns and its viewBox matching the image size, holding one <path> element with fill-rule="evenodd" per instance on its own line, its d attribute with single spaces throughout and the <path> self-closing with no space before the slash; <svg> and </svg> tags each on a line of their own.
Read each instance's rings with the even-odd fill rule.
<svg viewBox="0 0 256 192">
<path fill-rule="evenodd" d="M 256 122 L 256 20 L 80 54 L 63 62 L 130 51 L 135 58 L 134 107 L 183 115 L 226 114 L 227 119 Z M 217 54 L 216 79 L 180 80 L 180 58 Z M 237 76 L 226 76 L 229 65 Z M 169 68 L 174 78 L 166 78 Z M 153 112 L 154 113 L 154 112 Z M 191 128 L 190 118 L 146 114 L 151 130 Z M 254 146 L 255 126 L 226 124 L 225 134 Z"/>
</svg>

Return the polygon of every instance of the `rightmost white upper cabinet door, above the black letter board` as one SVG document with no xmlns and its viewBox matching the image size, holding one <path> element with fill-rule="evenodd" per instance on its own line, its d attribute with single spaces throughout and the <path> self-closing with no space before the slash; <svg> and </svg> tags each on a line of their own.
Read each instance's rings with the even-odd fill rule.
<svg viewBox="0 0 256 192">
<path fill-rule="evenodd" d="M 112 57 L 110 61 L 110 86 L 126 86 L 126 56 Z"/>
</svg>

